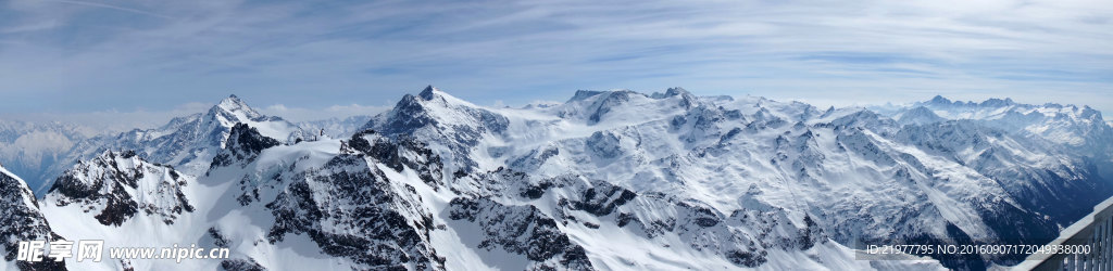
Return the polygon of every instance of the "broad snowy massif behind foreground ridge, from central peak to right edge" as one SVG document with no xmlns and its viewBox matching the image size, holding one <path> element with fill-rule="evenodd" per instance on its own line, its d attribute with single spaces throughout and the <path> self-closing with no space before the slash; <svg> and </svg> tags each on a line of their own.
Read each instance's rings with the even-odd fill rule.
<svg viewBox="0 0 1113 271">
<path fill-rule="evenodd" d="M 810 220 L 841 243 L 1038 243 L 1110 194 L 1097 172 L 1102 167 L 1094 167 L 1101 161 L 1081 159 L 1070 142 L 986 122 L 951 124 L 945 118 L 957 114 L 933 111 L 930 104 L 903 110 L 894 120 L 865 109 L 819 111 L 764 98 L 696 98 L 679 88 L 653 94 L 579 91 L 564 104 L 523 109 L 476 107 L 430 89 L 420 97 L 454 102 L 407 97 L 400 102 L 406 111 L 378 117 L 396 121 L 367 127 L 442 131 L 437 122 L 469 124 L 466 132 L 454 128 L 439 134 L 467 140 L 433 140 L 453 150 L 437 153 L 466 159 L 464 164 L 477 169 L 453 171 L 456 178 L 449 183 L 461 191 L 483 181 L 462 184 L 466 178 L 460 177 L 500 167 L 535 178 L 577 174 L 639 194 L 699 202 L 723 217 L 776 210 L 782 223 L 799 229 Z M 999 108 L 1014 106 L 987 101 L 978 107 L 998 111 L 969 116 L 1004 116 Z M 1082 111 L 1077 116 L 1100 120 Z M 479 129 L 490 122 L 477 120 L 503 118 L 504 129 Z M 949 132 L 933 132 L 938 129 Z M 1053 203 L 1067 198 L 1077 204 Z"/>
</svg>

